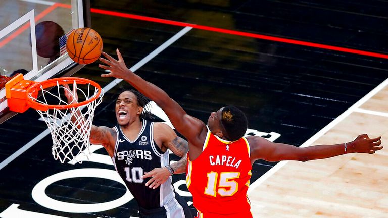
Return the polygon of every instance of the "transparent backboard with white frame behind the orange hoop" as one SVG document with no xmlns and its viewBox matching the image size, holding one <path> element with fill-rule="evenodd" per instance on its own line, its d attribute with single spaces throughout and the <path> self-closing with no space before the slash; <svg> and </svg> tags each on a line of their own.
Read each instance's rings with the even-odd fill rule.
<svg viewBox="0 0 388 218">
<path fill-rule="evenodd" d="M 73 29 L 90 27 L 90 4 L 89 0 L 2 0 L 0 17 L 3 123 L 16 114 L 9 111 L 4 86 L 17 73 L 40 82 L 70 76 L 83 67 L 71 60 L 66 50 L 61 52 L 59 38 Z"/>
</svg>

